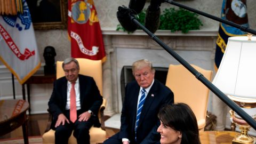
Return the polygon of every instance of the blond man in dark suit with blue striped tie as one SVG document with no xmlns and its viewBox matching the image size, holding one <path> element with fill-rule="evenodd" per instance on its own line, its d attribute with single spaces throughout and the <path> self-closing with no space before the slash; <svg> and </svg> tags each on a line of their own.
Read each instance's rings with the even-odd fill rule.
<svg viewBox="0 0 256 144">
<path fill-rule="evenodd" d="M 103 143 L 159 143 L 158 111 L 173 103 L 173 92 L 154 79 L 155 69 L 146 59 L 135 61 L 132 73 L 136 81 L 125 87 L 120 132 Z"/>
</svg>

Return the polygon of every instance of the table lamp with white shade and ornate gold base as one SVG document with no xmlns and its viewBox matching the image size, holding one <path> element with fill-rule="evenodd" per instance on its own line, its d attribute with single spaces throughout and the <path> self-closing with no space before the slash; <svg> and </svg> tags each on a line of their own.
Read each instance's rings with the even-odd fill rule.
<svg viewBox="0 0 256 144">
<path fill-rule="evenodd" d="M 225 53 L 212 82 L 253 119 L 256 119 L 256 37 L 229 37 Z M 241 133 L 232 143 L 255 143 L 250 125 L 230 110 L 230 120 Z"/>
</svg>

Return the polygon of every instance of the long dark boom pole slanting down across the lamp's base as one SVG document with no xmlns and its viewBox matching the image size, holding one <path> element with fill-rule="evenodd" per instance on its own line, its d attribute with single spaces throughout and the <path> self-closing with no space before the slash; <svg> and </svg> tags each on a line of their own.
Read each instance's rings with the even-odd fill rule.
<svg viewBox="0 0 256 144">
<path fill-rule="evenodd" d="M 233 109 L 239 116 L 241 116 L 248 124 L 250 124 L 253 129 L 256 130 L 256 122 L 255 120 L 245 113 L 236 103 L 230 100 L 223 92 L 221 92 L 215 85 L 213 85 L 208 79 L 206 79 L 201 73 L 199 73 L 196 69 L 189 65 L 189 63 L 180 57 L 179 54 L 174 52 L 169 46 L 161 41 L 155 34 L 151 33 L 145 26 L 141 25 L 141 23 L 135 19 L 134 14 L 129 14 L 130 19 L 133 23 L 139 26 L 145 33 L 147 33 L 156 43 L 163 47 L 165 51 L 172 55 L 177 61 L 181 63 L 185 68 L 187 68 L 190 73 L 192 73 L 199 81 L 201 81 L 206 87 L 208 87 L 214 94 L 216 94 L 223 102 L 225 102 L 231 109 Z"/>
</svg>

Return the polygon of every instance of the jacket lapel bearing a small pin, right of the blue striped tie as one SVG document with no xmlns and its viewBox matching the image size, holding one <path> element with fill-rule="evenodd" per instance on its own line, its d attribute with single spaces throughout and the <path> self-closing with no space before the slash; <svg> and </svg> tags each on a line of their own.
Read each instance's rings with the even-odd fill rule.
<svg viewBox="0 0 256 144">
<path fill-rule="evenodd" d="M 156 95 L 156 81 L 154 82 L 154 84 L 152 85 L 151 89 L 148 92 L 147 98 L 144 102 L 144 105 L 142 107 L 142 111 L 141 111 L 141 115 L 140 115 L 140 121 L 139 121 L 139 125 L 140 126 L 141 122 L 143 121 L 143 119 L 145 118 L 145 116 L 148 113 L 148 110 L 150 109 L 151 104 L 153 103 L 155 97 L 157 97 Z"/>
</svg>

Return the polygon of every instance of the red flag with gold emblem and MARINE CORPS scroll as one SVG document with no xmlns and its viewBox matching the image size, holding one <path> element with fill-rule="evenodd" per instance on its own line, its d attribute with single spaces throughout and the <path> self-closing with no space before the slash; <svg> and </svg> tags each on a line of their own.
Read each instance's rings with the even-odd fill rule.
<svg viewBox="0 0 256 144">
<path fill-rule="evenodd" d="M 71 57 L 106 61 L 98 15 L 93 0 L 68 0 Z"/>
</svg>

